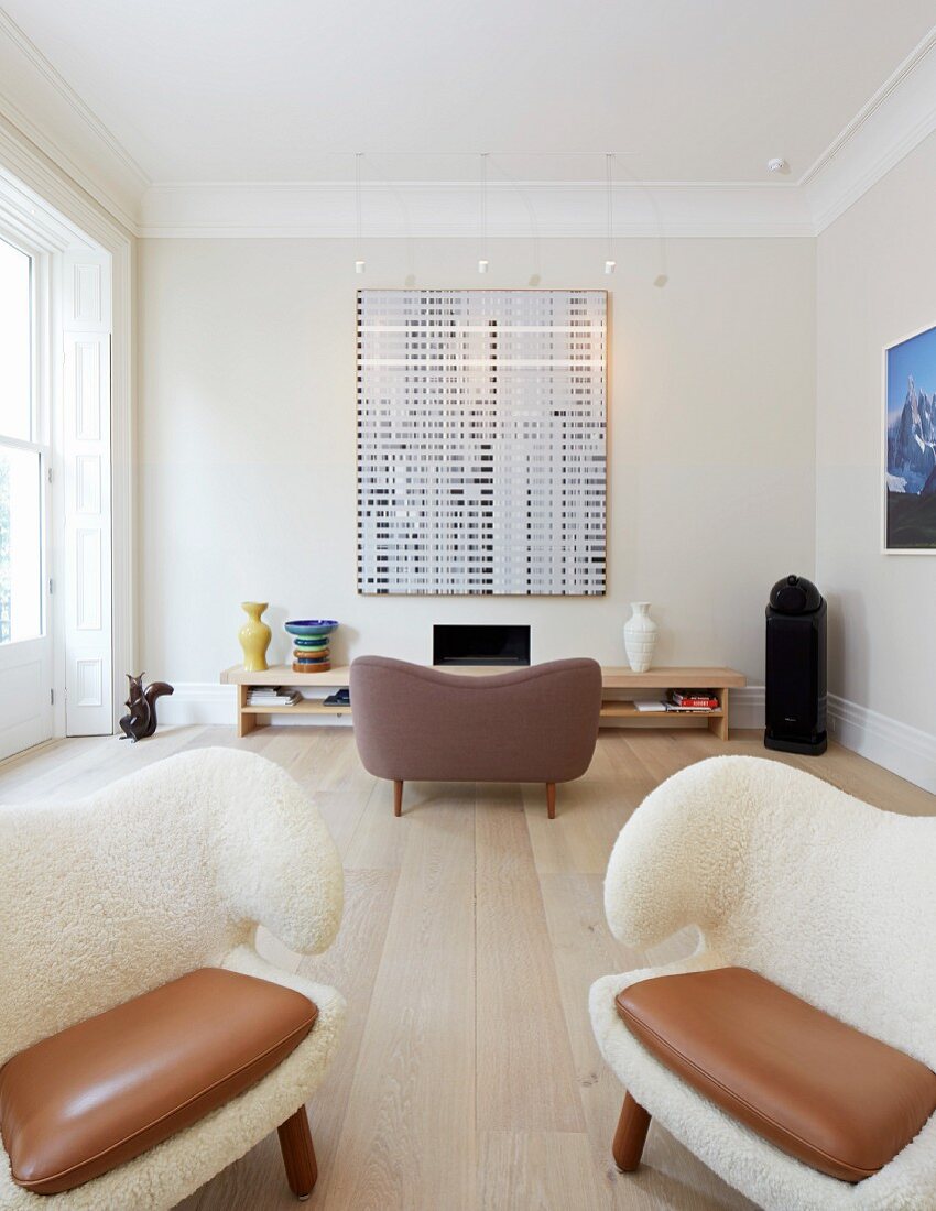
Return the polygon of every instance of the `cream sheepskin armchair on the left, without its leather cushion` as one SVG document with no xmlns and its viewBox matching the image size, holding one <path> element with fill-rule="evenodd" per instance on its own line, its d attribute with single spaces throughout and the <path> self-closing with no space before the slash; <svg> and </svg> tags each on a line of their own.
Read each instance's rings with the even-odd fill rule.
<svg viewBox="0 0 936 1211">
<path fill-rule="evenodd" d="M 258 924 L 315 954 L 335 937 L 343 874 L 306 793 L 252 753 L 159 762 L 76 803 L 0 808 L 0 1064 L 40 1039 L 202 966 L 309 997 L 309 1035 L 257 1085 L 64 1194 L 0 1165 L 2 1211 L 160 1211 L 288 1119 L 338 1046 L 344 1000 L 255 949 Z M 1 1150 L 1 1149 L 0 1149 Z"/>
</svg>

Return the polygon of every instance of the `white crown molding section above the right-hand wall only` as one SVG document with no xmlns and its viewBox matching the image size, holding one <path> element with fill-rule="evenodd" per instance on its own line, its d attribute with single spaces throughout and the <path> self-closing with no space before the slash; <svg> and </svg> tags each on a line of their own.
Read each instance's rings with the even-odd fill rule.
<svg viewBox="0 0 936 1211">
<path fill-rule="evenodd" d="M 816 235 L 936 131 L 936 27 L 799 178 Z"/>
</svg>

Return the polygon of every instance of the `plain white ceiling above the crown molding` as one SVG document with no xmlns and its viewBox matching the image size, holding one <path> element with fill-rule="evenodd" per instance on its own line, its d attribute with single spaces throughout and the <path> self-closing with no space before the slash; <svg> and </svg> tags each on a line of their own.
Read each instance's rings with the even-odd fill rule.
<svg viewBox="0 0 936 1211">
<path fill-rule="evenodd" d="M 932 0 L 4 0 L 155 182 L 802 177 Z M 446 154 L 443 154 L 446 153 Z M 569 155 L 569 153 L 574 153 Z"/>
</svg>

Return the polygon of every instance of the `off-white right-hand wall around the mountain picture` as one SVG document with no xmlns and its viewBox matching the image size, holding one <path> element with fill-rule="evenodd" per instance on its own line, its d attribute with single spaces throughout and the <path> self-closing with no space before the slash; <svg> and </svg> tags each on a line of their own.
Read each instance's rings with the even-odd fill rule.
<svg viewBox="0 0 936 1211">
<path fill-rule="evenodd" d="M 816 392 L 816 562 L 843 739 L 891 768 L 896 750 L 929 748 L 934 790 L 936 555 L 880 553 L 880 481 L 883 348 L 936 325 L 935 195 L 936 136 L 819 237 Z"/>
</svg>

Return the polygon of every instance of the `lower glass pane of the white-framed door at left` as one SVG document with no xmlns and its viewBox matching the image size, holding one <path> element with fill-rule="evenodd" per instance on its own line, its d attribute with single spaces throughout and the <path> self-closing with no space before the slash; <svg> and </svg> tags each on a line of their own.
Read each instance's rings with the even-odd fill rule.
<svg viewBox="0 0 936 1211">
<path fill-rule="evenodd" d="M 0 643 L 42 633 L 38 450 L 0 446 Z"/>
</svg>

